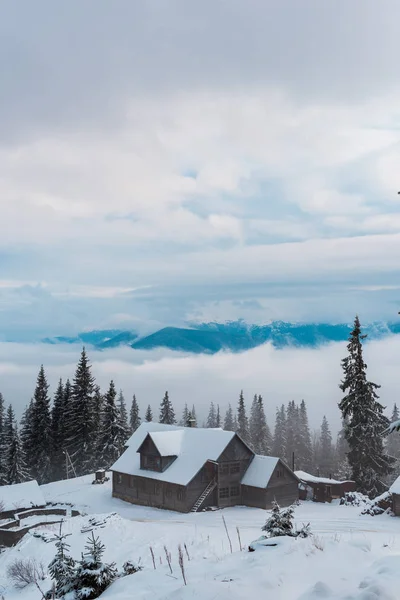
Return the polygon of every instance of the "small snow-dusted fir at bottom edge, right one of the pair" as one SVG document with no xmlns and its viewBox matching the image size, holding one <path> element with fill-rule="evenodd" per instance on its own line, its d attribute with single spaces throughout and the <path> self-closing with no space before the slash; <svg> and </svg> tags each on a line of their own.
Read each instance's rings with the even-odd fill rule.
<svg viewBox="0 0 400 600">
<path fill-rule="evenodd" d="M 86 552 L 77 563 L 72 589 L 77 600 L 98 598 L 117 577 L 115 563 L 103 563 L 105 547 L 98 537 L 89 537 Z"/>
</svg>

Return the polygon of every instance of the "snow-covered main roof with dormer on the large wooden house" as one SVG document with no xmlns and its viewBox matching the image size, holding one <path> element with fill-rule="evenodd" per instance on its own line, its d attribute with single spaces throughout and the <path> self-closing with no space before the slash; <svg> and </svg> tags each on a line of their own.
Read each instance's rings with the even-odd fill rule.
<svg viewBox="0 0 400 600">
<path fill-rule="evenodd" d="M 147 434 L 151 434 L 160 454 L 177 456 L 176 460 L 163 473 L 140 468 L 140 454 L 137 450 Z M 152 422 L 142 423 L 129 439 L 127 450 L 111 467 L 111 470 L 126 475 L 187 485 L 207 460 L 217 460 L 220 457 L 234 436 L 232 431 L 222 429 L 198 429 Z"/>
</svg>

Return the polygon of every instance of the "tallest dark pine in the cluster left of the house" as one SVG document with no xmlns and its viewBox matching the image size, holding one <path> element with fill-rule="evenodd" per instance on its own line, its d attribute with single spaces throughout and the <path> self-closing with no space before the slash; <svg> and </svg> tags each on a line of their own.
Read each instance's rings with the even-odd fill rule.
<svg viewBox="0 0 400 600">
<path fill-rule="evenodd" d="M 67 449 L 77 475 L 93 472 L 96 462 L 96 427 L 94 412 L 95 380 L 83 348 L 72 383 L 68 407 Z"/>
</svg>

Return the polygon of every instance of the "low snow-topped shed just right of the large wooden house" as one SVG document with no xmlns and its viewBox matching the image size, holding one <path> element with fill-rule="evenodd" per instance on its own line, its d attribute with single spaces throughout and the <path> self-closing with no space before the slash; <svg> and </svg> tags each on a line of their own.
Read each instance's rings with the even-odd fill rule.
<svg viewBox="0 0 400 600">
<path fill-rule="evenodd" d="M 354 481 L 338 481 L 330 477 L 316 477 L 305 471 L 295 471 L 300 480 L 300 500 L 313 500 L 314 502 L 332 502 L 342 498 L 346 492 L 355 492 Z"/>
</svg>

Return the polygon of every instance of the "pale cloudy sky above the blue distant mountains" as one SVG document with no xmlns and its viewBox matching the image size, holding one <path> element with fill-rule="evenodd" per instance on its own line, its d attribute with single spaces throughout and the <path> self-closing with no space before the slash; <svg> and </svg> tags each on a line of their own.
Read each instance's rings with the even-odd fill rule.
<svg viewBox="0 0 400 600">
<path fill-rule="evenodd" d="M 0 8 L 0 329 L 395 318 L 386 0 Z"/>
</svg>

